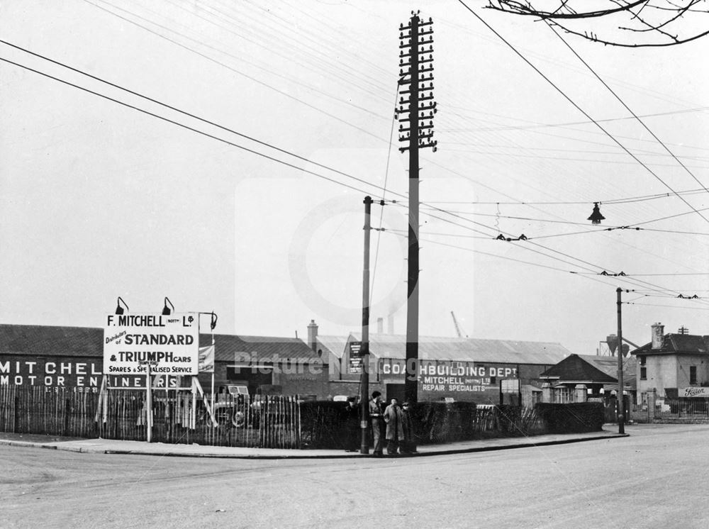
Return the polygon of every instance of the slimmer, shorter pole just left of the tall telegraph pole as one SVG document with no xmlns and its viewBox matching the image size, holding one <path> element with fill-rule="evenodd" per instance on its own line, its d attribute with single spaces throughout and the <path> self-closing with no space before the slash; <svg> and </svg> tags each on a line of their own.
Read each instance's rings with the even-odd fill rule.
<svg viewBox="0 0 709 529">
<path fill-rule="evenodd" d="M 369 454 L 369 233 L 372 231 L 372 197 L 364 197 L 364 272 L 362 272 L 362 401 L 359 426 L 362 430 L 360 454 Z"/>
</svg>

